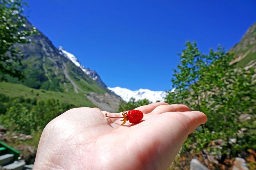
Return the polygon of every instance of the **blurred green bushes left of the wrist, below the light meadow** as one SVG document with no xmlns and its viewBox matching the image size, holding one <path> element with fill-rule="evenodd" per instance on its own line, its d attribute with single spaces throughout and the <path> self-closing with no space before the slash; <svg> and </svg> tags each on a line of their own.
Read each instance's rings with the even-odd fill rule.
<svg viewBox="0 0 256 170">
<path fill-rule="evenodd" d="M 38 101 L 36 98 L 10 98 L 0 94 L 0 124 L 10 131 L 32 134 L 42 131 L 55 117 L 77 106 L 48 99 Z"/>
</svg>

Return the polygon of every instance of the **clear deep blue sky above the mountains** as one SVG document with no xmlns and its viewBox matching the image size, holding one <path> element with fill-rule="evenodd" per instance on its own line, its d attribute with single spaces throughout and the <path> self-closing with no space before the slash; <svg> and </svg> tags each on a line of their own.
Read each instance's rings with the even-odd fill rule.
<svg viewBox="0 0 256 170">
<path fill-rule="evenodd" d="M 256 22 L 256 1 L 26 1 L 29 20 L 109 87 L 171 89 L 187 40 L 228 50 Z"/>
</svg>

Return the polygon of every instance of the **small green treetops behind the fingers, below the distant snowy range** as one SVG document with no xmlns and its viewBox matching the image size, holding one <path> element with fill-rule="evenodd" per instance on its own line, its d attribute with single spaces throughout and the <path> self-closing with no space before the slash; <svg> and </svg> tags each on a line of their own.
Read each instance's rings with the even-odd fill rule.
<svg viewBox="0 0 256 170">
<path fill-rule="evenodd" d="M 131 98 L 127 103 L 120 103 L 118 112 L 124 111 L 123 108 L 128 111 L 128 110 L 135 109 L 139 106 L 148 105 L 150 103 L 152 103 L 152 102 L 150 102 L 147 99 L 135 101 L 135 98 Z"/>
</svg>

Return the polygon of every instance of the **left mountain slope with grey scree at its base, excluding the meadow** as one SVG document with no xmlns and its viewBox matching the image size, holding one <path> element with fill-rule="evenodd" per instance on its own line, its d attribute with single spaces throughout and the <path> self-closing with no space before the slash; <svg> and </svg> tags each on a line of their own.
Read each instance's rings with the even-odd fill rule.
<svg viewBox="0 0 256 170">
<path fill-rule="evenodd" d="M 32 27 L 29 22 L 26 25 Z M 39 31 L 39 33 L 40 35 L 28 37 L 32 40 L 29 44 L 16 44 L 24 54 L 22 60 L 24 65 L 19 68 L 24 72 L 26 78 L 22 82 L 9 77 L 9 82 L 24 84 L 34 89 L 70 93 L 74 96 L 82 95 L 84 100 L 88 100 L 88 95 L 93 98 L 100 96 L 100 103 L 98 100 L 92 100 L 91 103 L 98 107 L 101 106 L 100 108 L 106 111 L 117 111 L 119 103 L 122 101 L 121 97 L 112 94 L 106 87 L 98 84 L 95 80 L 99 79 L 99 76 L 92 79 L 88 76 L 92 73 L 87 75 L 82 70 L 84 67 L 81 64 L 79 66 L 74 64 L 63 50 L 55 48 L 42 32 Z M 90 70 L 87 69 L 87 72 Z M 10 86 L 12 86 L 11 83 Z M 110 102 L 112 98 L 114 102 Z"/>
</svg>

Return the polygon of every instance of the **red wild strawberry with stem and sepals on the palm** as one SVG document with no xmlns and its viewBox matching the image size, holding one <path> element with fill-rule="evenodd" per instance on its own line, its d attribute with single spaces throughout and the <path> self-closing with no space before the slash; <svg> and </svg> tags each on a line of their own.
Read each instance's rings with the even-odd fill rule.
<svg viewBox="0 0 256 170">
<path fill-rule="evenodd" d="M 125 110 L 125 109 L 124 109 Z M 139 121 L 141 121 L 141 119 L 143 118 L 143 112 L 142 111 L 139 111 L 139 110 L 130 110 L 128 113 L 127 111 L 125 110 L 122 115 L 123 117 L 110 117 L 110 116 L 107 116 L 108 114 L 106 113 L 105 116 L 108 117 L 108 118 L 123 118 L 123 124 L 125 124 L 125 122 L 127 120 L 129 120 L 130 123 L 138 123 Z"/>
</svg>

